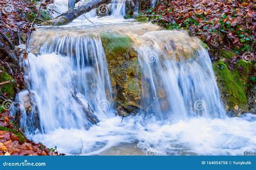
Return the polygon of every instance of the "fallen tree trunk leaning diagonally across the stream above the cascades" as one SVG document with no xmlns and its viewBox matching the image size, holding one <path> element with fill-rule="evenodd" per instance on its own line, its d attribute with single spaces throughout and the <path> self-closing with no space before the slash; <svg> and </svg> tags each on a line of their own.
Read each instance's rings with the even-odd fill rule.
<svg viewBox="0 0 256 170">
<path fill-rule="evenodd" d="M 50 21 L 43 22 L 42 25 L 59 26 L 68 24 L 84 13 L 90 12 L 92 9 L 95 9 L 102 4 L 109 3 L 110 1 L 111 0 L 94 0 L 92 2 L 85 2 L 76 8 L 64 12 L 61 16 Z"/>
</svg>

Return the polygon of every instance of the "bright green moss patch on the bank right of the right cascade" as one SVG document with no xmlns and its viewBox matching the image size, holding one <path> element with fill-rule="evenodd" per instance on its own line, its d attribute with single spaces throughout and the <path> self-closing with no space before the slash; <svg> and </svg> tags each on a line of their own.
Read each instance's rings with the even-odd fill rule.
<svg viewBox="0 0 256 170">
<path fill-rule="evenodd" d="M 213 64 L 213 70 L 217 76 L 220 91 L 224 94 L 224 99 L 230 107 L 238 105 L 243 107 L 247 103 L 246 93 L 243 87 L 237 83 L 227 65 L 223 61 Z"/>
</svg>

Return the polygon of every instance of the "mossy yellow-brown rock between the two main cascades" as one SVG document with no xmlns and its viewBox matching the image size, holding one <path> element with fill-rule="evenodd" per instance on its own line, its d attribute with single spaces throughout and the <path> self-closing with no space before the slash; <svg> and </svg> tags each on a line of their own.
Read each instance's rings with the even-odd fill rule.
<svg viewBox="0 0 256 170">
<path fill-rule="evenodd" d="M 140 66 L 137 52 L 132 47 L 132 39 L 116 32 L 101 33 L 100 38 L 106 54 L 116 103 L 125 110 L 129 106 L 139 107 L 142 92 Z"/>
</svg>

